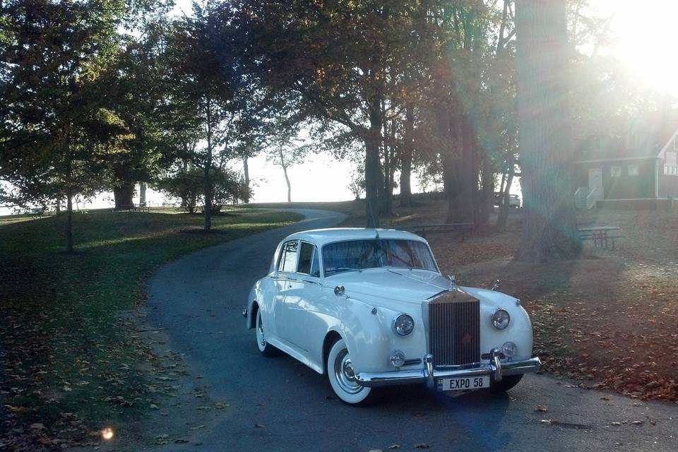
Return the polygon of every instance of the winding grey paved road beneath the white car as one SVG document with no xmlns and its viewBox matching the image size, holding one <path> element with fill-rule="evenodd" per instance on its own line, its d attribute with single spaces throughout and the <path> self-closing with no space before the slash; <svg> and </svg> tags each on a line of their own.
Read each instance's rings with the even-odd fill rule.
<svg viewBox="0 0 678 452">
<path fill-rule="evenodd" d="M 299 211 L 307 220 L 187 256 L 151 281 L 151 323 L 167 328 L 172 349 L 185 353 L 210 396 L 231 403 L 200 430 L 202 444 L 159 450 L 367 452 L 393 444 L 403 451 L 418 450 L 417 444 L 431 451 L 678 450 L 678 405 L 672 403 L 530 375 L 504 396 L 451 398 L 404 387 L 390 389 L 380 405 L 351 408 L 331 397 L 324 376 L 290 357 L 261 357 L 240 315 L 251 284 L 266 273 L 286 234 L 343 219 Z M 537 405 L 548 411 L 535 411 Z"/>
</svg>

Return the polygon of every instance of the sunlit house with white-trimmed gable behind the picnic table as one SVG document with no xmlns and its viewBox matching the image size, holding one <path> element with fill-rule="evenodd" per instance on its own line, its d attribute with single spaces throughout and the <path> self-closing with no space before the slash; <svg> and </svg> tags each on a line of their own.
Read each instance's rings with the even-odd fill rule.
<svg viewBox="0 0 678 452">
<path fill-rule="evenodd" d="M 678 115 L 654 114 L 626 130 L 579 143 L 574 162 L 578 208 L 655 207 L 667 202 L 659 200 L 678 198 Z"/>
</svg>

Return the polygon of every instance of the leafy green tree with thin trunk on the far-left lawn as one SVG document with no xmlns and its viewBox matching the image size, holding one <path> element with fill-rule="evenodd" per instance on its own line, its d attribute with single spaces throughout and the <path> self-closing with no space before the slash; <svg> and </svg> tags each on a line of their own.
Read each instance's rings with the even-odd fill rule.
<svg viewBox="0 0 678 452">
<path fill-rule="evenodd" d="M 8 1 L 0 47 L 0 178 L 16 203 L 66 197 L 73 251 L 73 196 L 105 179 L 105 156 L 128 138 L 100 95 L 117 55 L 121 0 Z"/>
</svg>

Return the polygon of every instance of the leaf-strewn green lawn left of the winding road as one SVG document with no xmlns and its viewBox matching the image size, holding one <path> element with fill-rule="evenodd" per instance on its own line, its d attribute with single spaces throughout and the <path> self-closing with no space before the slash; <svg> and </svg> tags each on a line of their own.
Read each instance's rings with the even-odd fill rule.
<svg viewBox="0 0 678 452">
<path fill-rule="evenodd" d="M 121 315 L 143 302 L 148 276 L 191 251 L 298 219 L 234 208 L 205 234 L 197 215 L 93 210 L 73 216 L 76 253 L 64 254 L 64 215 L 0 218 L 0 450 L 30 434 L 46 448 L 56 446 L 48 438 L 87 441 L 148 407 L 154 357 Z"/>
</svg>

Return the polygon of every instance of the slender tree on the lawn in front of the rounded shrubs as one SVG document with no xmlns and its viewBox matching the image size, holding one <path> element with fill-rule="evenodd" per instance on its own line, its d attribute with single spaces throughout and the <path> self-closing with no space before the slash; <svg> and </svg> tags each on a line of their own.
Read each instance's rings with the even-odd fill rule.
<svg viewBox="0 0 678 452">
<path fill-rule="evenodd" d="M 194 2 L 194 15 L 177 20 L 169 42 L 172 68 L 169 121 L 179 141 L 201 144 L 183 158 L 203 169 L 205 227 L 211 229 L 215 162 L 233 145 L 240 99 L 234 70 L 230 11 L 218 4 Z"/>
</svg>

